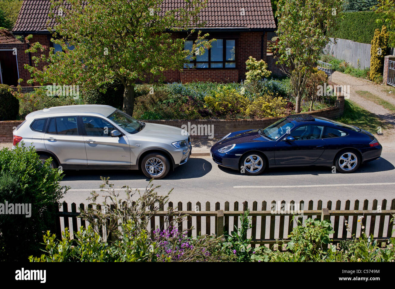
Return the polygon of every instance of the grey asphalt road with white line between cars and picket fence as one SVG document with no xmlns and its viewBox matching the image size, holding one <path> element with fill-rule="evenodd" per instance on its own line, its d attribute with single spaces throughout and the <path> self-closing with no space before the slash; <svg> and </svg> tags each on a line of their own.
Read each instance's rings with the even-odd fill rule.
<svg viewBox="0 0 395 289">
<path fill-rule="evenodd" d="M 170 200 L 177 203 L 191 201 L 202 204 L 210 201 L 220 202 L 221 208 L 225 201 L 282 201 L 295 202 L 304 200 L 316 202 L 322 200 L 369 200 L 395 198 L 395 152 L 383 152 L 382 158 L 363 164 L 352 174 L 332 173 L 331 168 L 303 167 L 268 169 L 261 175 L 248 176 L 237 171 L 222 168 L 210 157 L 192 157 L 190 160 L 169 174 L 165 179 L 154 181 L 160 185 L 158 192 L 166 193 L 171 188 Z M 101 176 L 110 177 L 115 188 L 128 185 L 130 188 L 145 188 L 149 180 L 138 171 L 123 170 L 89 170 L 65 171 L 62 185 L 71 189 L 64 196 L 68 203 L 88 203 L 87 197 L 92 190 L 100 191 Z M 362 203 L 362 202 L 361 202 Z M 183 208 L 183 209 L 186 209 Z M 203 209 L 203 208 L 202 208 Z M 233 206 L 231 205 L 231 209 Z M 258 205 L 258 209 L 259 205 Z M 268 208 L 269 209 L 269 208 Z"/>
</svg>

